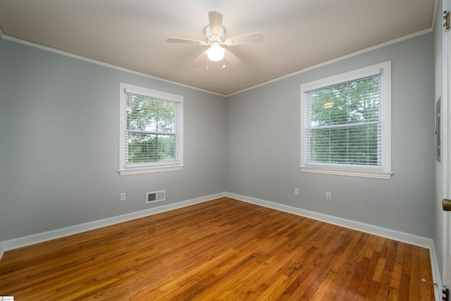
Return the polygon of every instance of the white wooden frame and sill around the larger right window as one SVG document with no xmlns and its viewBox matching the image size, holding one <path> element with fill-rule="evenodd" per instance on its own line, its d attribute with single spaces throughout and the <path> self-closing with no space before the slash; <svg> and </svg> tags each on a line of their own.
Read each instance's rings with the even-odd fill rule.
<svg viewBox="0 0 451 301">
<path fill-rule="evenodd" d="M 339 164 L 311 164 L 307 163 L 306 149 L 306 120 L 307 113 L 307 93 L 311 90 L 318 90 L 324 87 L 339 85 L 341 83 L 359 80 L 371 75 L 382 72 L 382 168 L 374 170 L 373 168 L 361 168 L 360 166 L 347 166 Z M 380 178 L 389 180 L 393 175 L 391 171 L 391 62 L 378 63 L 373 66 L 361 68 L 358 70 L 342 73 L 340 75 L 307 82 L 301 85 L 301 165 L 299 170 L 303 173 L 322 173 L 338 176 L 353 176 L 361 178 Z"/>
</svg>

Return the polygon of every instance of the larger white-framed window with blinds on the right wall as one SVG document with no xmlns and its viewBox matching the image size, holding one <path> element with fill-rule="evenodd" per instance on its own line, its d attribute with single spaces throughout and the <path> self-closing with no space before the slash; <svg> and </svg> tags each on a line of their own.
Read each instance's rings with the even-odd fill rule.
<svg viewBox="0 0 451 301">
<path fill-rule="evenodd" d="M 301 85 L 302 172 L 390 179 L 390 62 Z"/>
</svg>

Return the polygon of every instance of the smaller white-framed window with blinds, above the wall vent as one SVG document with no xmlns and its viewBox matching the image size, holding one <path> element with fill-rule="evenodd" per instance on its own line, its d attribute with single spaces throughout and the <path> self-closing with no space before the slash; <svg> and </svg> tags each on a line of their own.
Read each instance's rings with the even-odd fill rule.
<svg viewBox="0 0 451 301">
<path fill-rule="evenodd" d="M 183 97 L 121 83 L 121 175 L 183 169 Z"/>
</svg>

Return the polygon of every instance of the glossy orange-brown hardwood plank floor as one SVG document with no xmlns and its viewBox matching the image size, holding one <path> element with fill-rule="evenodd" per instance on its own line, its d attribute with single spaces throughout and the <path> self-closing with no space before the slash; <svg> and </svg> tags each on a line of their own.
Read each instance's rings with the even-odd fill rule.
<svg viewBox="0 0 451 301">
<path fill-rule="evenodd" d="M 5 252 L 15 300 L 434 300 L 427 249 L 221 198 Z"/>
</svg>

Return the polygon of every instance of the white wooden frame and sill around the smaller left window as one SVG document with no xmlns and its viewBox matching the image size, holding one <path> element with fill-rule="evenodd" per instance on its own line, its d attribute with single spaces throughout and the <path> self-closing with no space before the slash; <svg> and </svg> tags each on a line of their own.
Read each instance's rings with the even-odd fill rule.
<svg viewBox="0 0 451 301">
<path fill-rule="evenodd" d="M 153 97 L 156 99 L 163 99 L 170 102 L 178 102 L 180 105 L 180 116 L 178 118 L 178 133 L 179 137 L 179 154 L 178 161 L 176 162 L 148 162 L 142 164 L 135 164 L 135 166 L 127 166 L 125 159 L 125 130 L 126 129 L 126 102 L 125 90 L 135 94 L 144 95 L 147 97 Z M 119 84 L 119 174 L 121 176 L 134 175 L 140 173 L 159 173 L 163 171 L 180 171 L 185 167 L 183 165 L 183 96 L 147 89 L 144 87 L 138 87 L 135 85 L 128 85 L 121 82 Z"/>
</svg>

